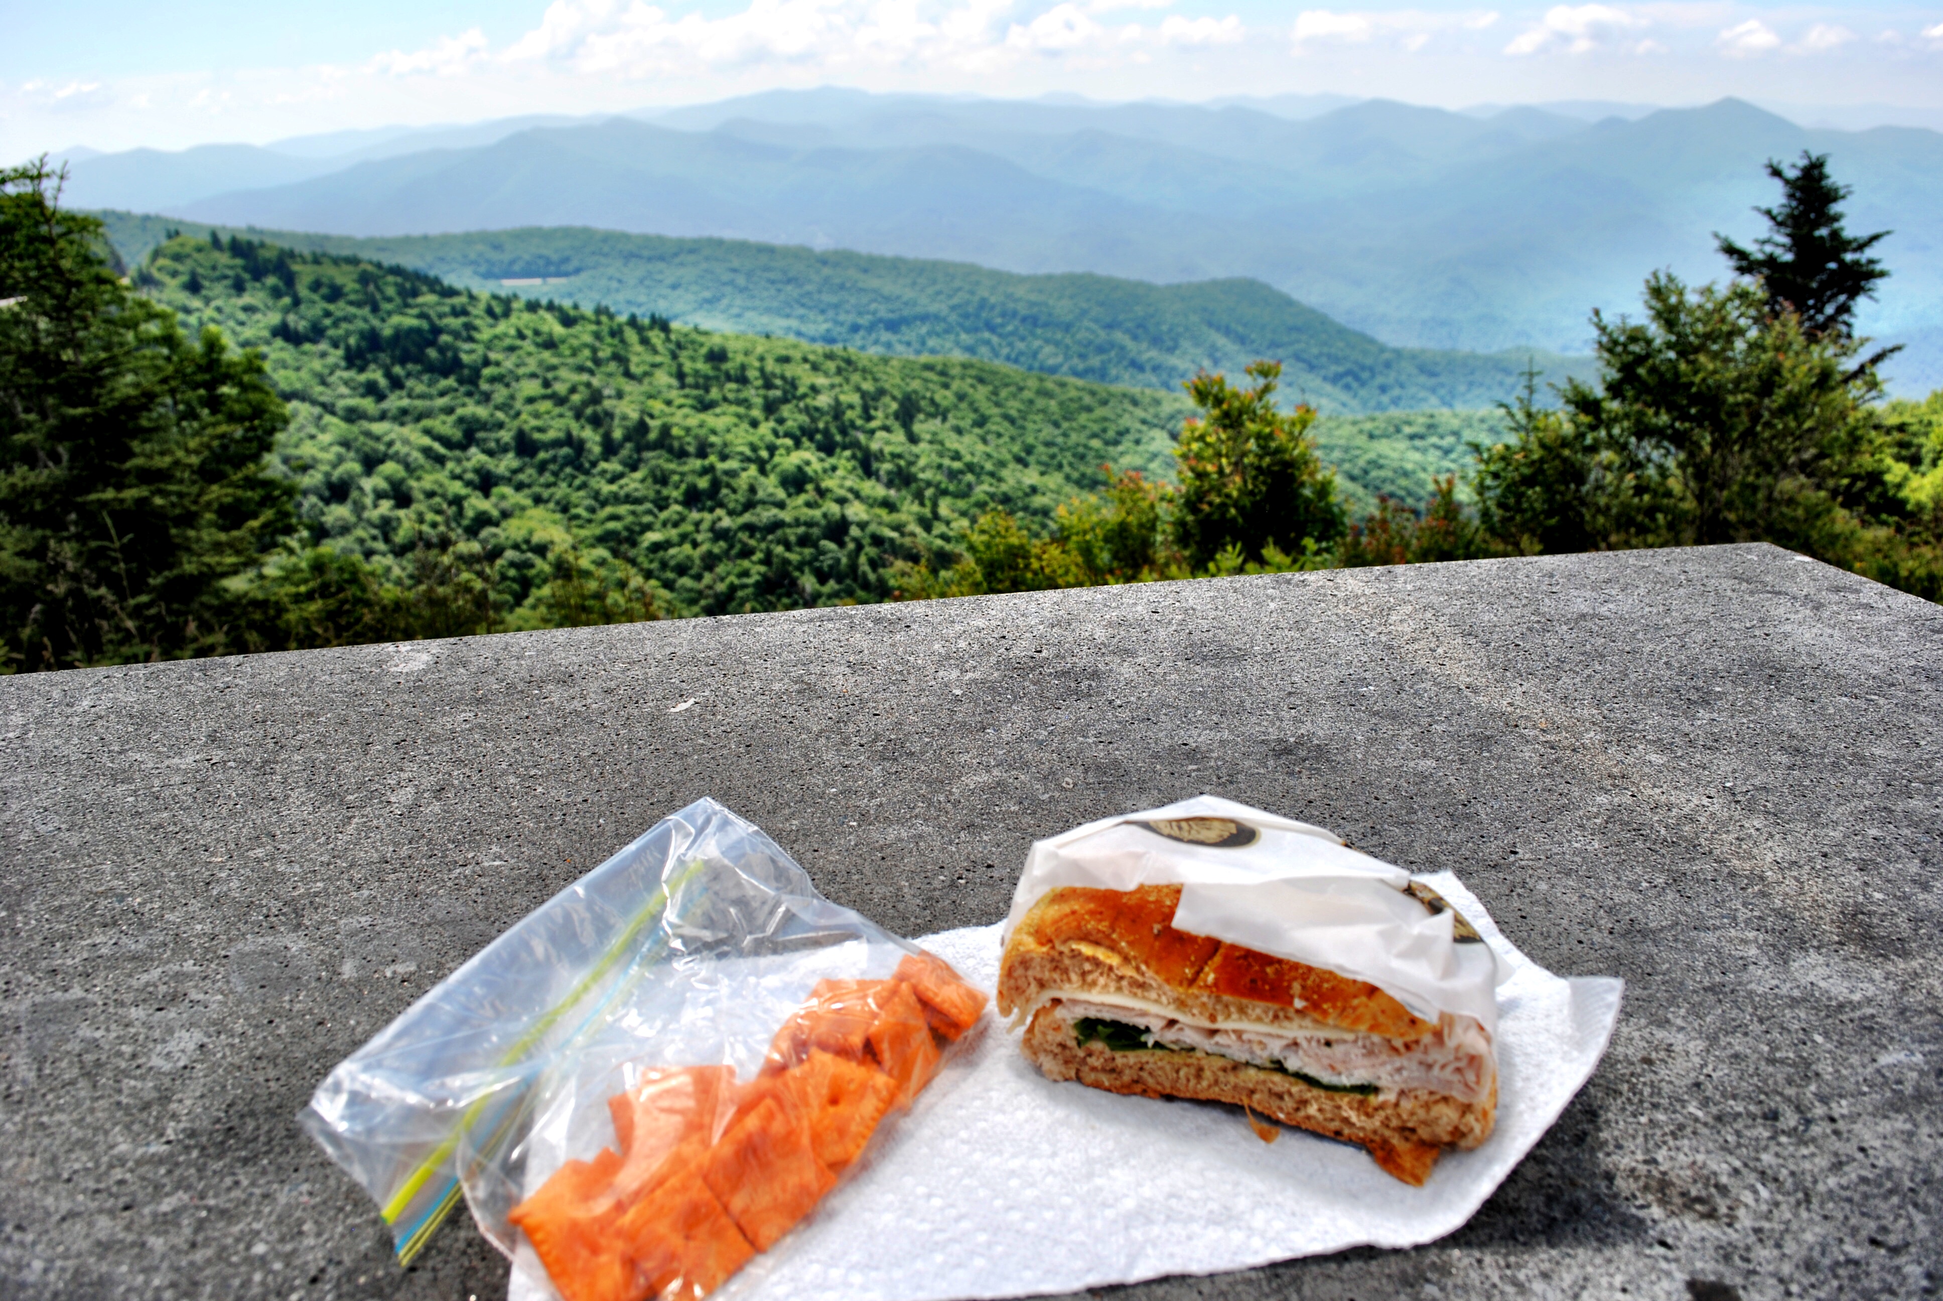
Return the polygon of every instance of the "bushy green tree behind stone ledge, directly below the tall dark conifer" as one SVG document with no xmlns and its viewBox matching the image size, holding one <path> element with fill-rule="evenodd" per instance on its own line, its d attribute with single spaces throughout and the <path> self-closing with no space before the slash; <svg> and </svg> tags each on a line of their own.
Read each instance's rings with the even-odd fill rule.
<svg viewBox="0 0 1943 1301">
<path fill-rule="evenodd" d="M 1758 288 L 1688 290 L 1655 272 L 1644 321 L 1593 313 L 1599 387 L 1564 410 L 1512 408 L 1479 451 L 1484 531 L 1506 550 L 1770 541 L 1842 560 L 1844 508 L 1879 395 L 1858 342 L 1811 336 Z"/>
</svg>

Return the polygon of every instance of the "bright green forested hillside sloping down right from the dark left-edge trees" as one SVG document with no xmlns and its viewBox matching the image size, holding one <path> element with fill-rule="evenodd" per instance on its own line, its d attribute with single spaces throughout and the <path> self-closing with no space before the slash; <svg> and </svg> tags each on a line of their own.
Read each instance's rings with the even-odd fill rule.
<svg viewBox="0 0 1943 1301">
<path fill-rule="evenodd" d="M 563 550 L 668 615 L 890 595 L 979 513 L 1047 519 L 1100 467 L 1164 473 L 1177 395 L 546 307 L 367 261 L 177 237 L 136 284 L 260 348 L 297 519 L 400 576 L 476 541 L 501 603 Z"/>
</svg>

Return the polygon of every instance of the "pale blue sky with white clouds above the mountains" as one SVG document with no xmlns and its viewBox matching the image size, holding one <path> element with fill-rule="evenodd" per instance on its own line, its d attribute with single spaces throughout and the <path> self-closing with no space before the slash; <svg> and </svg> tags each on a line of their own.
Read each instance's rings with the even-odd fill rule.
<svg viewBox="0 0 1943 1301">
<path fill-rule="evenodd" d="M 1943 111 L 1931 4 L 175 0 L 0 4 L 0 156 L 600 113 L 785 86 Z"/>
</svg>

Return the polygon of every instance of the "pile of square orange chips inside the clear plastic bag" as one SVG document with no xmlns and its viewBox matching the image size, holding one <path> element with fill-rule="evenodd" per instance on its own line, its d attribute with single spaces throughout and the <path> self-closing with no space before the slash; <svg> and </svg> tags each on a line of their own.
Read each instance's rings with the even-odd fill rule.
<svg viewBox="0 0 1943 1301">
<path fill-rule="evenodd" d="M 830 1192 L 983 1009 L 929 953 L 890 980 L 822 980 L 756 1079 L 643 1072 L 608 1099 L 620 1151 L 567 1161 L 509 1219 L 565 1301 L 707 1295 Z"/>
</svg>

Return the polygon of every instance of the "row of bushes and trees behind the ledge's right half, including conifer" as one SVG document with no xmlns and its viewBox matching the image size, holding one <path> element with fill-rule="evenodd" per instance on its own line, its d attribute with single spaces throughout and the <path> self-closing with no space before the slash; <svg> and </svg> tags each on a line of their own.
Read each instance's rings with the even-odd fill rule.
<svg viewBox="0 0 1943 1301">
<path fill-rule="evenodd" d="M 993 513 L 905 593 L 1768 541 L 1931 601 L 1943 597 L 1943 393 L 1885 403 L 1856 305 L 1889 274 L 1850 235 L 1828 159 L 1768 163 L 1782 200 L 1753 249 L 1716 235 L 1727 284 L 1646 280 L 1644 317 L 1595 311 L 1597 383 L 1502 404 L 1510 438 L 1422 506 L 1383 498 L 1348 521 L 1306 438 L 1253 387 L 1197 375 L 1179 486 L 1123 473 L 1032 535 Z"/>
</svg>

